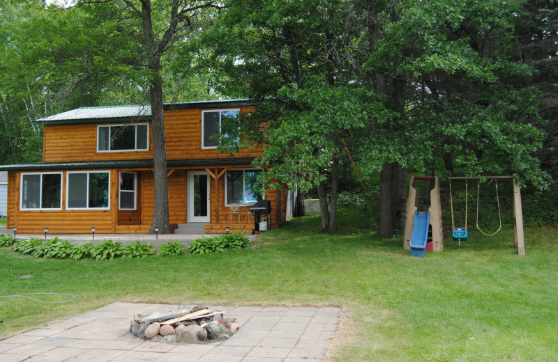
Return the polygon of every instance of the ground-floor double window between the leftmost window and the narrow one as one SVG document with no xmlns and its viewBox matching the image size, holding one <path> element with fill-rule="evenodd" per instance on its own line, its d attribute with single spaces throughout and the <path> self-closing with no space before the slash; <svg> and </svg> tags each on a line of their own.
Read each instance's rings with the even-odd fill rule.
<svg viewBox="0 0 558 362">
<path fill-rule="evenodd" d="M 68 171 L 66 209 L 109 210 L 109 171 Z"/>
</svg>

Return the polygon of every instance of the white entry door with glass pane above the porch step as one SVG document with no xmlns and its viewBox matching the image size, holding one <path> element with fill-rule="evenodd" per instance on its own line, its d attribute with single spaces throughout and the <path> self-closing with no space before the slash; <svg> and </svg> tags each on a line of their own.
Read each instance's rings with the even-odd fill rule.
<svg viewBox="0 0 558 362">
<path fill-rule="evenodd" d="M 188 223 L 209 223 L 209 174 L 188 173 Z"/>
</svg>

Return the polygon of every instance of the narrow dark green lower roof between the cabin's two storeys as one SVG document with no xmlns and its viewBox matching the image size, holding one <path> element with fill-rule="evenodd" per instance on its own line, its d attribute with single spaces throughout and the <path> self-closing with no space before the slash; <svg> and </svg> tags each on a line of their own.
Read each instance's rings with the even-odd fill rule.
<svg viewBox="0 0 558 362">
<path fill-rule="evenodd" d="M 255 158 L 220 158 L 220 159 L 169 159 L 167 167 L 211 167 L 227 165 L 252 164 Z M 34 164 L 15 164 L 0 166 L 0 171 L 61 171 L 77 169 L 101 169 L 101 168 L 151 168 L 153 159 L 133 159 L 118 161 L 91 161 L 91 162 L 37 162 Z"/>
</svg>

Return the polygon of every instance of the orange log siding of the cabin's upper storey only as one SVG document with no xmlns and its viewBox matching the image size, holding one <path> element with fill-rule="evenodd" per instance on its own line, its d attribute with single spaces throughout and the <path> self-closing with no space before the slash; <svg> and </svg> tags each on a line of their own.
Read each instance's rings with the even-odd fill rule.
<svg viewBox="0 0 558 362">
<path fill-rule="evenodd" d="M 248 111 L 250 109 L 251 107 L 244 107 L 242 110 Z M 209 109 L 165 111 L 167 159 L 229 157 L 228 154 L 219 153 L 214 148 L 202 150 L 202 111 L 205 110 Z M 96 124 L 45 125 L 43 162 L 152 159 L 153 137 L 151 136 L 151 122 L 148 123 L 149 150 L 121 152 L 97 152 Z M 118 122 L 114 124 L 118 124 Z M 260 146 L 251 150 L 241 150 L 236 157 L 257 157 L 261 154 L 262 148 Z"/>
</svg>

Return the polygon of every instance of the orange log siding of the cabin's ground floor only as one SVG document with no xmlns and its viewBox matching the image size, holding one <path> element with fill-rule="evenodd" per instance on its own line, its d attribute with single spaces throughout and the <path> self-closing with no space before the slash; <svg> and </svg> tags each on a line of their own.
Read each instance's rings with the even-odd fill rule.
<svg viewBox="0 0 558 362">
<path fill-rule="evenodd" d="M 236 168 L 236 167 L 235 167 Z M 248 168 L 246 165 L 245 168 Z M 229 168 L 234 169 L 234 168 Z M 225 168 L 210 171 L 219 175 Z M 83 170 L 87 171 L 87 170 Z M 174 170 L 168 178 L 169 220 L 171 224 L 188 222 L 188 171 L 202 171 L 199 168 Z M 7 227 L 17 226 L 18 233 L 42 234 L 49 228 L 50 235 L 91 233 L 147 233 L 153 220 L 153 171 L 137 172 L 137 210 L 118 210 L 119 170 L 110 171 L 110 210 L 66 210 L 66 178 L 62 173 L 62 210 L 20 210 L 20 173 L 8 173 L 8 221 Z M 206 226 L 208 233 L 224 233 L 225 226 L 231 230 L 250 232 L 253 219 L 247 218 L 248 207 L 241 207 L 240 223 L 233 218 L 229 222 L 229 207 L 225 206 L 225 173 L 216 181 L 210 180 L 211 224 Z M 285 191 L 281 192 L 281 214 L 285 217 Z M 278 190 L 269 190 L 266 199 L 271 200 L 271 227 L 278 226 Z"/>
</svg>

